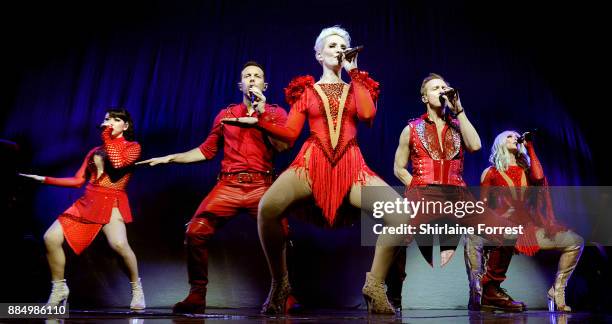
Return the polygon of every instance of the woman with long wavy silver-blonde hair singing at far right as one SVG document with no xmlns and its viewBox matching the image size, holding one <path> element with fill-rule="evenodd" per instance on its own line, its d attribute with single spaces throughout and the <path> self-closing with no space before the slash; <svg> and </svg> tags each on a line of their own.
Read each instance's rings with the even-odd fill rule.
<svg viewBox="0 0 612 324">
<path fill-rule="evenodd" d="M 546 191 L 548 183 L 533 142 L 528 136 L 521 137 L 515 131 L 502 132 L 495 138 L 489 161 L 491 166 L 482 173 L 481 196 L 488 199 L 489 206 L 494 207 L 497 214 L 525 226 L 525 233 L 519 236 L 516 243 L 519 253 L 532 256 L 540 249 L 561 251 L 557 275 L 548 290 L 548 305 L 550 311 L 571 311 L 571 307 L 565 303 L 565 287 L 578 264 L 584 241 L 556 221 Z M 543 187 L 543 190 L 526 190 L 526 187 L 532 186 Z M 472 248 L 482 247 L 475 244 Z M 494 254 L 500 249 L 501 253 Z M 482 276 L 483 306 L 488 304 L 490 287 L 499 289 L 506 278 L 507 266 L 500 269 L 495 264 L 499 262 L 498 255 L 507 255 L 509 263 L 513 250 L 511 246 L 501 247 L 490 254 Z"/>
</svg>

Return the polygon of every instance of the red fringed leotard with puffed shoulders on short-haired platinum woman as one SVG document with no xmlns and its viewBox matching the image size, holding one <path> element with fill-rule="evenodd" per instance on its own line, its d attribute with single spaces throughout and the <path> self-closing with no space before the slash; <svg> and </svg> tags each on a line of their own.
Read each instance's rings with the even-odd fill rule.
<svg viewBox="0 0 612 324">
<path fill-rule="evenodd" d="M 293 79 L 285 88 L 291 105 L 287 124 L 260 120 L 260 127 L 272 136 L 293 143 L 306 118 L 310 137 L 289 166 L 307 176 L 315 203 L 330 225 L 351 186 L 365 184 L 375 173 L 366 165 L 357 144 L 357 122 L 371 125 L 376 115 L 378 82 L 367 72 L 353 69 L 351 83 L 315 84 L 312 76 Z"/>
</svg>

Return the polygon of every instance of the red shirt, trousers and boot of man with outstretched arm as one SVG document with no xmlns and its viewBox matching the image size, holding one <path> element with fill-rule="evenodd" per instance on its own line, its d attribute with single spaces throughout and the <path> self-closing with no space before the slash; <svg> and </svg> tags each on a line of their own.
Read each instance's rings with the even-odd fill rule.
<svg viewBox="0 0 612 324">
<path fill-rule="evenodd" d="M 245 117 L 245 104 L 230 105 L 219 112 L 212 130 L 200 145 L 206 160 L 223 148 L 219 181 L 202 200 L 186 232 L 187 270 L 190 294 L 182 303 L 204 305 L 208 284 L 208 242 L 217 229 L 241 211 L 257 217 L 257 206 L 272 185 L 274 147 L 267 134 L 257 127 L 221 123 L 223 118 Z M 259 116 L 271 124 L 283 125 L 287 113 L 277 105 L 266 104 Z M 283 222 L 287 234 L 287 221 Z M 179 303 L 175 306 L 181 306 Z M 184 306 L 184 305 L 183 305 Z"/>
</svg>

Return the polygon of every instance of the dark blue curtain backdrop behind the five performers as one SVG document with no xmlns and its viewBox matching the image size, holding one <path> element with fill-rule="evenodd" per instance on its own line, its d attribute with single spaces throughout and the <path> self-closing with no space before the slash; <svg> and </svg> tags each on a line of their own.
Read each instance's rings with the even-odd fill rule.
<svg viewBox="0 0 612 324">
<path fill-rule="evenodd" d="M 96 125 L 105 109 L 121 106 L 133 115 L 143 158 L 186 151 L 206 138 L 220 109 L 241 100 L 236 83 L 248 60 L 265 66 L 268 102 L 288 108 L 283 88 L 298 75 L 320 76 L 314 40 L 321 28 L 339 24 L 351 33 L 353 45 L 365 45 L 359 68 L 381 84 L 376 120 L 372 128 L 361 126 L 359 143 L 370 167 L 388 183 L 400 184 L 392 170 L 398 136 L 409 119 L 424 113 L 419 87 L 430 72 L 460 89 L 466 114 L 482 139 L 483 149 L 466 156 L 469 184 L 478 183 L 499 132 L 532 128 L 539 129 L 536 147 L 552 184 L 593 183 L 588 136 L 575 122 L 579 107 L 564 92 L 567 82 L 558 79 L 558 62 L 544 59 L 546 43 L 538 39 L 543 32 L 537 30 L 546 31 L 553 19 L 542 22 L 533 13 L 543 8 L 530 7 L 528 13 L 527 6 L 500 5 L 110 1 L 17 8 L 14 14 L 37 28 L 8 38 L 14 51 L 3 62 L 8 74 L 2 103 L 8 109 L 0 115 L 0 137 L 20 145 L 19 171 L 70 176 L 100 143 Z M 518 21 L 524 24 L 513 25 Z M 573 71 L 571 64 L 565 68 Z M 278 157 L 278 171 L 307 133 L 306 127 L 295 147 Z M 184 224 L 214 185 L 221 158 L 139 167 L 132 178 L 128 190 L 135 222 L 128 226 L 129 239 L 151 306 L 169 306 L 188 290 Z M 2 299 L 46 298 L 42 234 L 81 192 L 21 183 L 21 207 L 3 217 L 14 223 L 4 230 L 11 232 L 6 237 L 16 240 L 7 253 L 18 262 L 9 271 L 22 284 L 10 292 L 3 289 Z M 373 251 L 361 247 L 358 222 L 339 229 L 291 223 L 291 271 L 298 297 L 313 307 L 359 306 Z M 269 277 L 255 225 L 241 215 L 213 241 L 210 306 L 257 307 L 263 302 Z M 404 306 L 465 306 L 462 256 L 459 249 L 446 269 L 436 265 L 432 270 L 412 247 Z M 531 307 L 543 307 L 554 262 L 556 256 L 517 257 L 506 287 Z M 119 264 L 103 237 L 82 257 L 69 253 L 73 307 L 127 305 L 129 285 Z M 571 304 L 586 307 L 587 287 L 596 290 L 581 279 L 586 271 L 580 265 L 570 284 Z"/>
</svg>

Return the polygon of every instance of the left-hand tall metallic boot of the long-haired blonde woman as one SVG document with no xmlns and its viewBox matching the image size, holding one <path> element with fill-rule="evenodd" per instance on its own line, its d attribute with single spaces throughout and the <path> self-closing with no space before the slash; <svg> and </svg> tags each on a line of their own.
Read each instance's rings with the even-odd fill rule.
<svg viewBox="0 0 612 324">
<path fill-rule="evenodd" d="M 482 300 L 482 276 L 484 273 L 483 258 L 484 246 L 482 238 L 476 235 L 467 235 L 463 255 L 465 259 L 465 271 L 470 283 L 470 297 L 468 309 L 479 311 Z"/>
</svg>

